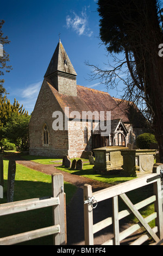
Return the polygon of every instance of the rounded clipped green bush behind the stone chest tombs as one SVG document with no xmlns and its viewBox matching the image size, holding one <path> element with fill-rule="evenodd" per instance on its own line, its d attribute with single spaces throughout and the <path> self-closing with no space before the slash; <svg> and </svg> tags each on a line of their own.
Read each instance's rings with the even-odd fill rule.
<svg viewBox="0 0 163 256">
<path fill-rule="evenodd" d="M 140 149 L 149 149 L 151 143 L 157 143 L 155 136 L 152 133 L 143 133 L 136 139 L 136 146 Z"/>
</svg>

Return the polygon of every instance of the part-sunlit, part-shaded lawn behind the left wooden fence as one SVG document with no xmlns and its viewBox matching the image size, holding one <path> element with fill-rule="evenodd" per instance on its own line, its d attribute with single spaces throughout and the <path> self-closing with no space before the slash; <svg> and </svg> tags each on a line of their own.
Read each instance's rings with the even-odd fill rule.
<svg viewBox="0 0 163 256">
<path fill-rule="evenodd" d="M 7 203 L 8 162 L 4 160 L 4 198 L 0 199 L 0 204 Z M 51 182 L 51 175 L 16 164 L 14 202 L 52 196 Z M 75 186 L 65 182 L 66 204 L 70 202 L 76 190 Z M 1 216 L 0 222 L 0 237 L 48 227 L 53 224 L 52 207 Z M 40 239 L 20 243 L 20 245 L 53 245 L 53 237 L 45 236 Z"/>
</svg>

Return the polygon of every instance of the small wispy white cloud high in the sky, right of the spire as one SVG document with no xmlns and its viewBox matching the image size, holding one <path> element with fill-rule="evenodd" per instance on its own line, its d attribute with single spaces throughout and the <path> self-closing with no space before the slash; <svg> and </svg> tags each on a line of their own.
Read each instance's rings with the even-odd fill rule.
<svg viewBox="0 0 163 256">
<path fill-rule="evenodd" d="M 93 34 L 88 26 L 86 8 L 80 15 L 77 15 L 73 11 L 72 16 L 66 16 L 66 25 L 67 28 L 72 28 L 78 35 L 86 35 L 90 37 Z"/>
</svg>

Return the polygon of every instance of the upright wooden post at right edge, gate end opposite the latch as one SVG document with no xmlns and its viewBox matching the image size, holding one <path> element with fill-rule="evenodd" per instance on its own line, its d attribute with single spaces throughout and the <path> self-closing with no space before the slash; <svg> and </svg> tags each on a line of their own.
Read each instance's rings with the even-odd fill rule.
<svg viewBox="0 0 163 256">
<path fill-rule="evenodd" d="M 153 167 L 153 173 L 157 173 L 160 175 L 160 170 L 163 169 L 163 164 L 156 163 Z M 154 194 L 156 195 L 155 201 L 155 211 L 157 212 L 157 218 L 155 219 L 155 225 L 158 227 L 158 236 L 160 240 L 163 239 L 163 182 L 161 179 L 158 179 L 157 182 L 154 182 Z"/>
</svg>

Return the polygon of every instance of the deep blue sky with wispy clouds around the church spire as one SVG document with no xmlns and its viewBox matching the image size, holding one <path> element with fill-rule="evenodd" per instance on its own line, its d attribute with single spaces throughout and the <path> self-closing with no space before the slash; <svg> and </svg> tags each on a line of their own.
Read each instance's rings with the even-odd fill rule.
<svg viewBox="0 0 163 256">
<path fill-rule="evenodd" d="M 10 102 L 14 98 L 32 112 L 43 76 L 60 39 L 76 70 L 77 84 L 107 91 L 99 81 L 88 81 L 91 69 L 85 62 L 103 66 L 96 0 L 8 0 L 1 2 L 5 46 L 12 70 L 4 75 Z M 114 92 L 109 92 L 114 96 Z"/>
</svg>

